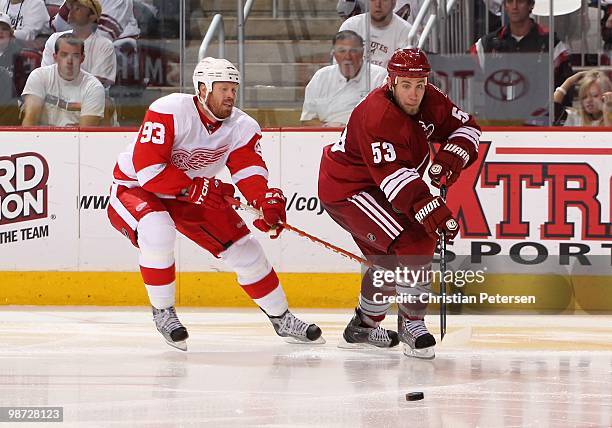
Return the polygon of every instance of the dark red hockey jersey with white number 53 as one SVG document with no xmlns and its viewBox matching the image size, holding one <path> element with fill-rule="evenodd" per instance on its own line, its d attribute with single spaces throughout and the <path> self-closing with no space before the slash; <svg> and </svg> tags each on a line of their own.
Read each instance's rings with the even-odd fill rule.
<svg viewBox="0 0 612 428">
<path fill-rule="evenodd" d="M 474 119 L 431 84 L 414 116 L 395 104 L 386 87 L 375 89 L 353 110 L 340 140 L 323 149 L 319 197 L 335 202 L 378 188 L 396 209 L 412 214 L 413 204 L 430 196 L 422 180 L 428 141 L 467 143 L 477 153 L 479 138 Z"/>
</svg>

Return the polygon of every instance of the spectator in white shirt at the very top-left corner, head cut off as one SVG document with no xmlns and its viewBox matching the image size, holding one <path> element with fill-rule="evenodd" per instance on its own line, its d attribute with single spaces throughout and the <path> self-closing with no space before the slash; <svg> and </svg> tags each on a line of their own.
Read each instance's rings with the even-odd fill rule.
<svg viewBox="0 0 612 428">
<path fill-rule="evenodd" d="M 0 11 L 11 17 L 18 40 L 33 43 L 37 36 L 51 33 L 43 0 L 0 0 Z"/>
</svg>

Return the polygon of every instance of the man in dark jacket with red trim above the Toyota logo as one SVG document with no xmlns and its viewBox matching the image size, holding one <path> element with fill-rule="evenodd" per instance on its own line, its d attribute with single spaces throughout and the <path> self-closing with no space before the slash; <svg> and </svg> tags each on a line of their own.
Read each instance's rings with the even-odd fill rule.
<svg viewBox="0 0 612 428">
<path fill-rule="evenodd" d="M 484 66 L 485 54 L 489 53 L 527 53 L 548 52 L 548 29 L 537 24 L 529 16 L 535 0 L 504 0 L 504 10 L 508 26 L 502 26 L 481 37 L 471 48 Z M 565 43 L 555 35 L 555 87 L 561 85 L 573 74 L 569 61 L 569 50 Z M 571 94 L 564 104 L 571 101 Z"/>
</svg>

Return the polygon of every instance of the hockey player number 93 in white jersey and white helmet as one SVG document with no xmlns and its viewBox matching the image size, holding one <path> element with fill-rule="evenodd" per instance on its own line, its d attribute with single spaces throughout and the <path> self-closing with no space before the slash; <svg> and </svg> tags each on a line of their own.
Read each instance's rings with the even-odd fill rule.
<svg viewBox="0 0 612 428">
<path fill-rule="evenodd" d="M 290 341 L 321 343 L 321 330 L 289 310 L 276 272 L 244 221 L 226 202 L 232 181 L 262 213 L 253 225 L 278 237 L 285 197 L 268 187 L 261 129 L 234 107 L 240 74 L 225 59 L 205 58 L 193 74 L 195 96 L 171 94 L 147 111 L 136 140 L 119 155 L 108 207 L 111 224 L 139 250 L 153 319 L 168 344 L 186 350 L 175 304 L 176 232 L 223 260 L 238 283 Z"/>
</svg>

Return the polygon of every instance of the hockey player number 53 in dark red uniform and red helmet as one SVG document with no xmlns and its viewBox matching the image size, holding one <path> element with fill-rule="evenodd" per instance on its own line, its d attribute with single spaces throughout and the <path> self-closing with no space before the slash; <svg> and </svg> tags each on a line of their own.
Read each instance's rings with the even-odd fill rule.
<svg viewBox="0 0 612 428">
<path fill-rule="evenodd" d="M 424 322 L 431 275 L 418 272 L 429 271 L 438 233 L 452 239 L 459 228 L 423 181 L 429 142 L 441 143 L 427 171 L 431 183 L 439 187 L 445 177 L 451 186 L 478 156 L 480 127 L 428 83 L 430 69 L 420 49 L 397 50 L 387 65 L 387 84 L 353 110 L 340 140 L 323 151 L 319 198 L 327 213 L 376 266 L 414 272 L 381 286 L 380 272 L 368 269 L 344 331 L 348 347 L 402 342 L 408 356 L 435 356 L 436 341 Z M 401 302 L 397 333 L 380 326 L 391 293 Z"/>
</svg>

